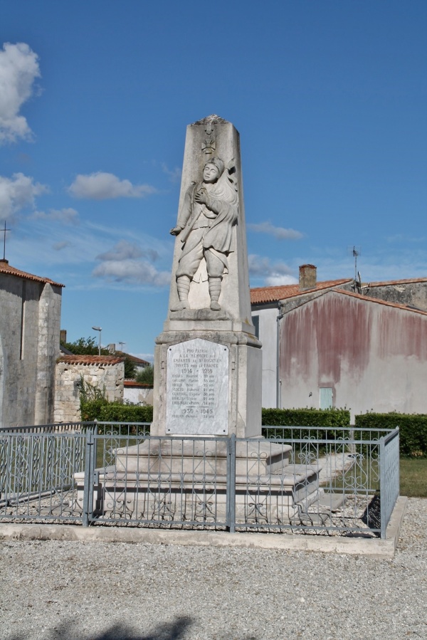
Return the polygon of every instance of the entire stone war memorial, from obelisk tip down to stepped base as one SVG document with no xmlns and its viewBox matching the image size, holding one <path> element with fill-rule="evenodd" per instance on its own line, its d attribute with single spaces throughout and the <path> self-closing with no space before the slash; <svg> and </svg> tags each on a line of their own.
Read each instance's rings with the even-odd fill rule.
<svg viewBox="0 0 427 640">
<path fill-rule="evenodd" d="M 174 261 L 154 352 L 150 438 L 117 449 L 114 465 L 99 470 L 97 508 L 120 518 L 149 520 L 155 511 L 156 519 L 226 520 L 232 483 L 236 513 L 246 520 L 249 503 L 258 518 L 260 493 L 265 513 L 288 520 L 297 501 L 317 495 L 317 468 L 289 465 L 291 447 L 261 436 L 261 344 L 251 322 L 240 141 L 221 117 L 187 127 L 170 233 Z"/>
</svg>

